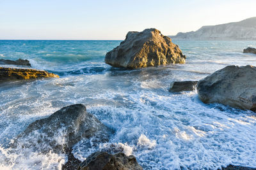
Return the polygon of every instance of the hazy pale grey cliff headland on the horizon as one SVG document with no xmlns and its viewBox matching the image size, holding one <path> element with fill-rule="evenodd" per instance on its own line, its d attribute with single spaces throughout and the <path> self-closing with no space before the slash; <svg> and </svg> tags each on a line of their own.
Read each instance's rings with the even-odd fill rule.
<svg viewBox="0 0 256 170">
<path fill-rule="evenodd" d="M 240 22 L 203 26 L 197 31 L 179 32 L 169 37 L 188 40 L 256 40 L 256 17 Z"/>
</svg>

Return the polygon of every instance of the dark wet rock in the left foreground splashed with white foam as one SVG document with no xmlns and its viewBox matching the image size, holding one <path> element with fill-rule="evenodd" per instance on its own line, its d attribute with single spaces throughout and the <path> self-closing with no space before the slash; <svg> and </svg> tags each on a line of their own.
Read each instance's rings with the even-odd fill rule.
<svg viewBox="0 0 256 170">
<path fill-rule="evenodd" d="M 74 104 L 29 124 L 15 143 L 41 152 L 70 153 L 72 146 L 82 138 L 90 138 L 92 143 L 104 143 L 112 132 L 88 113 L 83 104 Z"/>
</svg>

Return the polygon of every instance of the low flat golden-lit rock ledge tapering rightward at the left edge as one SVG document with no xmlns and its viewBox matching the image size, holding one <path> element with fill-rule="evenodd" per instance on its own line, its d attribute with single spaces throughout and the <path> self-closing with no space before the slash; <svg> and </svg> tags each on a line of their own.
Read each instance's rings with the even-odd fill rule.
<svg viewBox="0 0 256 170">
<path fill-rule="evenodd" d="M 30 78 L 59 78 L 57 74 L 41 71 L 37 69 L 9 68 L 0 67 L 0 81 L 4 80 L 22 80 Z"/>
</svg>

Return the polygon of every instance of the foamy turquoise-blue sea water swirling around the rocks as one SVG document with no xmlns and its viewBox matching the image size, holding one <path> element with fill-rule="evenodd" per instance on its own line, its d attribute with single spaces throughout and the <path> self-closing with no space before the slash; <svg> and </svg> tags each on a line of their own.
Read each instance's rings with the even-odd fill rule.
<svg viewBox="0 0 256 170">
<path fill-rule="evenodd" d="M 255 113 L 202 103 L 196 90 L 168 92 L 172 81 L 200 80 L 228 65 L 256 66 L 256 55 L 243 53 L 256 41 L 173 40 L 186 64 L 134 70 L 105 64 L 106 52 L 120 42 L 0 41 L 0 59 L 28 59 L 60 75 L 0 84 L 0 169 L 61 169 L 67 155 L 10 143 L 31 122 L 80 103 L 115 134 L 91 148 L 85 139 L 77 143 L 72 153 L 79 160 L 115 146 L 144 169 L 256 168 Z"/>
</svg>

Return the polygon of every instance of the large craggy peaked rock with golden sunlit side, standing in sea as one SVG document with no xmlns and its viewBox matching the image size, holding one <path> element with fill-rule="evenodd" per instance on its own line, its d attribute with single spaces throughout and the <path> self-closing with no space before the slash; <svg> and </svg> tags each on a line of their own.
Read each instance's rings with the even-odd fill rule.
<svg viewBox="0 0 256 170">
<path fill-rule="evenodd" d="M 162 64 L 185 63 L 186 56 L 178 45 L 157 29 L 142 32 L 130 31 L 119 46 L 106 54 L 105 62 L 113 67 L 159 66 Z"/>
</svg>

